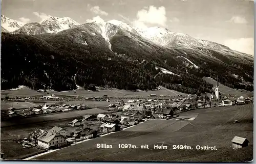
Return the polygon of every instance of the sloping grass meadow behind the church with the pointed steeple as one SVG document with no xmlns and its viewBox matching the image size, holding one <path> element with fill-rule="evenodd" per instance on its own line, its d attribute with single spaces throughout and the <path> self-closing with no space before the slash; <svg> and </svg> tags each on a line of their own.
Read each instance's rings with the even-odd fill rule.
<svg viewBox="0 0 256 164">
<path fill-rule="evenodd" d="M 214 86 L 217 85 L 217 81 L 212 78 L 204 77 L 203 79 Z M 220 83 L 219 83 L 219 90 L 222 94 L 225 94 L 225 95 L 232 94 L 232 95 L 244 96 L 245 98 L 249 97 L 249 96 L 253 96 L 253 92 L 249 92 L 249 91 L 248 92 L 240 92 L 238 90 L 226 87 Z"/>
</svg>

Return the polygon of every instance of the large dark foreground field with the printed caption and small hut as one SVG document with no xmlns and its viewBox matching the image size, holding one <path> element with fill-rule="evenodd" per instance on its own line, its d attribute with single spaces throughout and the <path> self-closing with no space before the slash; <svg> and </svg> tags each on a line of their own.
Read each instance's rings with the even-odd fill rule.
<svg viewBox="0 0 256 164">
<path fill-rule="evenodd" d="M 253 106 L 239 105 L 195 110 L 186 116 L 193 121 L 152 120 L 124 131 L 38 156 L 48 160 L 118 160 L 118 161 L 245 161 L 252 159 Z M 181 114 L 182 116 L 182 114 Z M 233 119 L 241 123 L 233 124 Z M 237 126 L 236 126 L 237 125 Z M 232 150 L 231 140 L 241 136 L 249 146 Z M 113 149 L 96 148 L 109 144 Z M 119 149 L 118 144 L 149 145 L 149 149 Z M 167 149 L 154 149 L 154 145 Z M 173 145 L 191 146 L 193 150 L 174 150 Z M 216 146 L 218 150 L 197 150 L 196 146 Z"/>
</svg>

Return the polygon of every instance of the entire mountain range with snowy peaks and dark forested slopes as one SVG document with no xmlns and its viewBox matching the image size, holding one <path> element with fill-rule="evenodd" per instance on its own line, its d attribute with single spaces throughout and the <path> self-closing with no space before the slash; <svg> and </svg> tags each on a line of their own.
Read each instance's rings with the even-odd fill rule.
<svg viewBox="0 0 256 164">
<path fill-rule="evenodd" d="M 127 23 L 79 24 L 49 17 L 24 24 L 1 16 L 2 89 L 73 90 L 76 86 L 211 92 L 202 77 L 253 90 L 253 57 L 227 46 L 160 27 Z"/>
</svg>

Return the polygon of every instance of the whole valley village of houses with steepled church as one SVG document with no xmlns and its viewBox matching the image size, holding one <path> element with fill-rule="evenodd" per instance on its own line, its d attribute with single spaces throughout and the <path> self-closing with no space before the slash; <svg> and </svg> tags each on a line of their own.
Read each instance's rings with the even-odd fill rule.
<svg viewBox="0 0 256 164">
<path fill-rule="evenodd" d="M 29 101 L 12 102 L 8 99 L 5 103 L 12 103 L 14 105 L 7 110 L 1 111 L 2 119 L 16 120 L 73 111 L 97 110 L 97 108 L 88 107 L 86 104 L 88 100 L 80 104 L 72 104 L 71 100 L 67 104 L 65 101 L 63 102 L 59 98 L 53 97 L 54 95 L 27 98 L 27 100 L 58 100 L 39 105 Z M 215 91 L 210 95 L 207 93 L 200 95 L 179 95 L 176 97 L 171 97 L 170 95 L 150 95 L 143 99 L 130 99 L 127 102 L 124 102 L 123 99 L 113 99 L 107 95 L 103 95 L 101 97 L 94 97 L 89 101 L 105 101 L 110 104 L 108 107 L 101 108 L 105 111 L 104 113 L 86 114 L 82 118 L 74 118 L 73 121 L 66 122 L 65 125 L 56 125 L 51 129 L 34 128 L 29 132 L 28 136 L 23 135 L 23 137 L 17 138 L 15 142 L 21 144 L 24 148 L 37 147 L 45 151 L 60 149 L 76 144 L 77 142 L 117 132 L 149 120 L 181 120 L 184 118 L 179 118 L 180 113 L 191 110 L 252 103 L 253 97 L 224 96 L 218 90 L 217 84 Z"/>
</svg>

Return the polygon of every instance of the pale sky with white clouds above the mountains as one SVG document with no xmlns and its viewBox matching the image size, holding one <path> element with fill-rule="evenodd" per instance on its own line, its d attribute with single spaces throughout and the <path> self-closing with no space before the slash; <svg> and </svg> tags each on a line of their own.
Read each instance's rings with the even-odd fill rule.
<svg viewBox="0 0 256 164">
<path fill-rule="evenodd" d="M 22 22 L 49 16 L 160 26 L 254 54 L 254 3 L 236 0 L 2 0 L 2 14 Z"/>
</svg>

